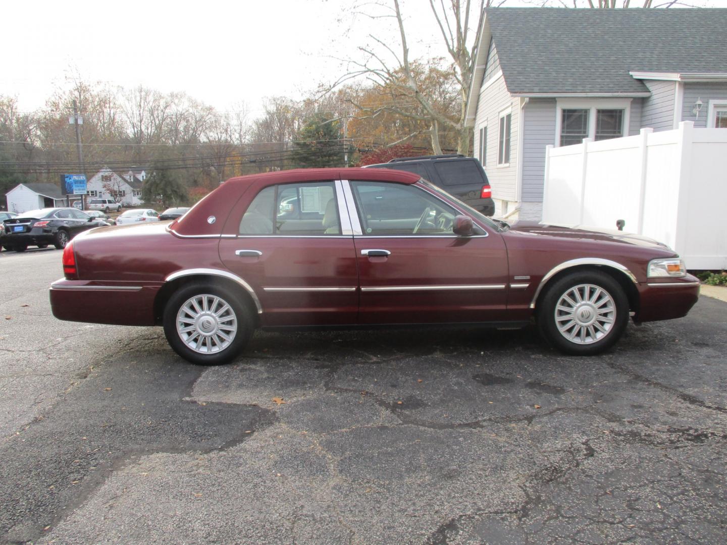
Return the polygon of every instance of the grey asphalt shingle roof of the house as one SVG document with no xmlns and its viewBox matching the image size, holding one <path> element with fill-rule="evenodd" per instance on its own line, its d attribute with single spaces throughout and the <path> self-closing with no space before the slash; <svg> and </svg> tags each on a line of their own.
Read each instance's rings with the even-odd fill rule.
<svg viewBox="0 0 727 545">
<path fill-rule="evenodd" d="M 727 9 L 485 12 L 510 93 L 646 92 L 630 71 L 727 73 Z"/>
</svg>

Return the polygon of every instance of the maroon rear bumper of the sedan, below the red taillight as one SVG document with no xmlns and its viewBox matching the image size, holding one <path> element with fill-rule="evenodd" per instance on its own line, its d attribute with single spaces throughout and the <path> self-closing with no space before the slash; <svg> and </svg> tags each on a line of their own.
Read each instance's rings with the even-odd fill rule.
<svg viewBox="0 0 727 545">
<path fill-rule="evenodd" d="M 154 299 L 161 286 L 61 278 L 50 285 L 50 307 L 59 320 L 153 326 Z"/>
</svg>

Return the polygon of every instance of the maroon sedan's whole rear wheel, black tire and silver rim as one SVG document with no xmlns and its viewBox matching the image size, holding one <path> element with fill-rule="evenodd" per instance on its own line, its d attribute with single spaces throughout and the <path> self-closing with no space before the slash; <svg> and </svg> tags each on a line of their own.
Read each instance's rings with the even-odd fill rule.
<svg viewBox="0 0 727 545">
<path fill-rule="evenodd" d="M 175 292 L 164 308 L 164 334 L 182 358 L 203 366 L 228 363 L 254 330 L 252 313 L 222 286 L 193 283 Z"/>
</svg>

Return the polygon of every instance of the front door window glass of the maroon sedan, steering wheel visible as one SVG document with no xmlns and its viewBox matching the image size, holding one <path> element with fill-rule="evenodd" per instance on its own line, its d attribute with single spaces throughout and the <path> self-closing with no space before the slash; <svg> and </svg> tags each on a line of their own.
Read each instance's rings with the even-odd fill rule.
<svg viewBox="0 0 727 545">
<path fill-rule="evenodd" d="M 351 182 L 364 235 L 454 235 L 457 210 L 413 185 Z"/>
</svg>

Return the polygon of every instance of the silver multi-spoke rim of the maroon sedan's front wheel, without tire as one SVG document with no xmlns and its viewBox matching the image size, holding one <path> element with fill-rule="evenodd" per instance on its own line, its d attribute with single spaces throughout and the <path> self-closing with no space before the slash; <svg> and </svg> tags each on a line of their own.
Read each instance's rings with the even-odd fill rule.
<svg viewBox="0 0 727 545">
<path fill-rule="evenodd" d="M 592 344 L 610 333 L 616 322 L 616 304 L 601 286 L 580 284 L 569 288 L 555 305 L 555 325 L 566 339 Z"/>
</svg>

